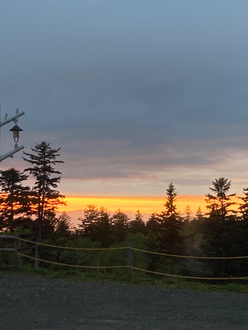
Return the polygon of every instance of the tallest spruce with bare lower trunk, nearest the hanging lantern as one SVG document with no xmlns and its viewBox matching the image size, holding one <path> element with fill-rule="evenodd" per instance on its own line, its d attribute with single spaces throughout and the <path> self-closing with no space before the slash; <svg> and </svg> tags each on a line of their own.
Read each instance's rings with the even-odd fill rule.
<svg viewBox="0 0 248 330">
<path fill-rule="evenodd" d="M 55 170 L 54 166 L 64 163 L 57 160 L 60 156 L 58 149 L 52 149 L 50 143 L 42 141 L 31 148 L 32 153 L 23 152 L 26 157 L 22 157 L 31 167 L 25 171 L 35 178 L 32 189 L 34 196 L 33 204 L 37 216 L 37 243 L 42 241 L 42 226 L 46 217 L 55 216 L 59 204 L 63 202 L 64 196 L 56 189 L 61 180 L 61 172 Z M 40 256 L 40 245 L 36 244 L 35 258 Z M 39 260 L 35 260 L 35 268 L 39 268 Z"/>
</svg>

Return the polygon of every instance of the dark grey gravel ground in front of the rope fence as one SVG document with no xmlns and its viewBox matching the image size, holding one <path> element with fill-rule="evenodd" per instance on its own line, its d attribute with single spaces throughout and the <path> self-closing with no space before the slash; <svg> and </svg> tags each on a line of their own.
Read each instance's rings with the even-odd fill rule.
<svg viewBox="0 0 248 330">
<path fill-rule="evenodd" d="M 248 329 L 248 296 L 0 273 L 1 330 Z"/>
</svg>

